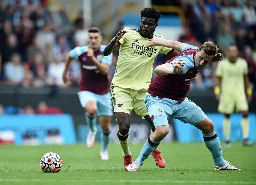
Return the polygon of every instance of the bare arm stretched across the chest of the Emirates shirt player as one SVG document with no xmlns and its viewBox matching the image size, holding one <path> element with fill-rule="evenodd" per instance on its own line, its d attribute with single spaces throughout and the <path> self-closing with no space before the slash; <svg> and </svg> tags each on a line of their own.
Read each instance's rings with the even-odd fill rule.
<svg viewBox="0 0 256 185">
<path fill-rule="evenodd" d="M 158 40 L 158 39 L 148 39 L 151 41 L 146 48 L 152 47 L 152 46 L 164 46 L 168 48 L 175 49 L 178 52 L 181 52 L 181 47 L 184 43 L 182 42 L 177 42 L 173 40 Z"/>
</svg>

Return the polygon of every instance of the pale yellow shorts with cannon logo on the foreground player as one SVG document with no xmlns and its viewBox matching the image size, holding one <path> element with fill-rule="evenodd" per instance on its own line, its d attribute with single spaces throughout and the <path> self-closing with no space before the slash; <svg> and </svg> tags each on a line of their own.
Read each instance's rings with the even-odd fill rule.
<svg viewBox="0 0 256 185">
<path fill-rule="evenodd" d="M 144 103 L 147 89 L 124 89 L 111 83 L 110 91 L 114 112 L 130 114 L 132 109 L 134 109 L 136 114 L 142 117 L 148 115 Z"/>
</svg>

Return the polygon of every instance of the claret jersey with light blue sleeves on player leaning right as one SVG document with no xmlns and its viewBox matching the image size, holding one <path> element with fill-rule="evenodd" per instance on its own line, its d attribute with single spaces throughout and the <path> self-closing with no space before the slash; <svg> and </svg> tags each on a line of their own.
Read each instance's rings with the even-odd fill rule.
<svg viewBox="0 0 256 185">
<path fill-rule="evenodd" d="M 183 44 L 181 53 L 172 57 L 167 64 L 174 67 L 174 64 L 180 59 L 184 60 L 183 69 L 172 75 L 158 74 L 148 88 L 148 93 L 159 98 L 169 98 L 182 102 L 190 88 L 190 81 L 196 77 L 199 69 L 194 65 L 194 57 L 198 47 L 189 44 Z"/>
</svg>

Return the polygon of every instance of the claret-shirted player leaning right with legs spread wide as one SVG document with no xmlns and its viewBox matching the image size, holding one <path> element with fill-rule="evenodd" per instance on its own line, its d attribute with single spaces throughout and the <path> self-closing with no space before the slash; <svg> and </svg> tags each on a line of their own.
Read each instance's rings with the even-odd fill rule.
<svg viewBox="0 0 256 185">
<path fill-rule="evenodd" d="M 156 130 L 146 140 L 136 161 L 125 169 L 137 171 L 143 165 L 144 160 L 168 134 L 167 118 L 172 117 L 202 130 L 204 143 L 212 153 L 216 170 L 240 170 L 223 159 L 213 122 L 200 107 L 186 97 L 190 81 L 195 78 L 199 69 L 211 61 L 223 59 L 223 55 L 217 53 L 218 48 L 212 42 L 205 42 L 198 48 L 177 41 L 153 39 L 148 46 L 158 45 L 174 48 L 181 53 L 155 68 L 158 75 L 148 88 L 145 105 Z"/>
</svg>

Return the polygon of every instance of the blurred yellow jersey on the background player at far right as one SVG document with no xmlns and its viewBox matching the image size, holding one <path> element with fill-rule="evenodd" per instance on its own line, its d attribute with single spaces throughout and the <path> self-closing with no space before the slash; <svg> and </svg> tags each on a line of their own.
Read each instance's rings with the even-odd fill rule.
<svg viewBox="0 0 256 185">
<path fill-rule="evenodd" d="M 216 75 L 221 77 L 221 95 L 227 98 L 244 98 L 244 75 L 248 73 L 246 60 L 237 57 L 235 63 L 224 59 L 218 63 Z"/>
</svg>

